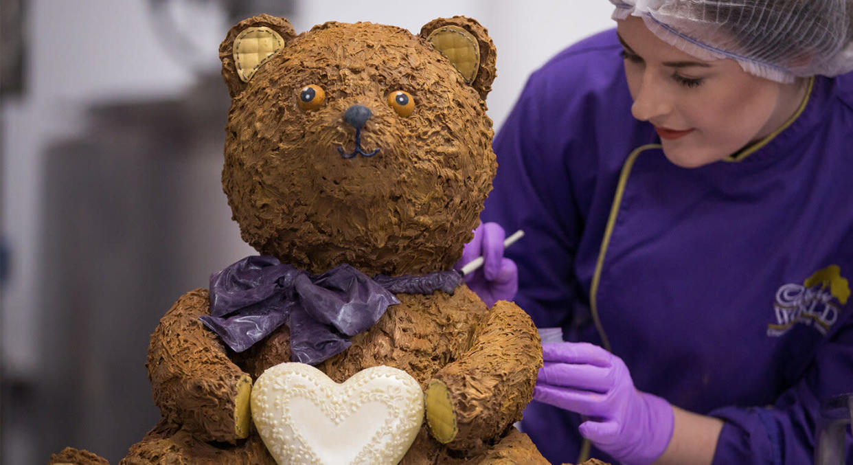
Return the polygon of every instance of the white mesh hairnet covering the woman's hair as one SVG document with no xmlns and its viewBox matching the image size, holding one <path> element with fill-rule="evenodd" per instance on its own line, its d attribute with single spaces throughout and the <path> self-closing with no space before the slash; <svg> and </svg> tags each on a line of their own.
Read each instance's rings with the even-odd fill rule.
<svg viewBox="0 0 853 465">
<path fill-rule="evenodd" d="M 853 0 L 610 0 L 701 60 L 731 58 L 779 82 L 853 70 Z"/>
</svg>

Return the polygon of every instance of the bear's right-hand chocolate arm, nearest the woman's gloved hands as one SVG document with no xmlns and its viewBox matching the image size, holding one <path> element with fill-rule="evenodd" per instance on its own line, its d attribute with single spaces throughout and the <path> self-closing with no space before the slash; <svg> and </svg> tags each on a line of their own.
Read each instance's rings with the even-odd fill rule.
<svg viewBox="0 0 853 465">
<path fill-rule="evenodd" d="M 427 387 L 433 436 L 454 450 L 479 450 L 521 419 L 542 367 L 542 346 L 531 318 L 498 301 L 473 343 L 438 370 Z"/>
</svg>

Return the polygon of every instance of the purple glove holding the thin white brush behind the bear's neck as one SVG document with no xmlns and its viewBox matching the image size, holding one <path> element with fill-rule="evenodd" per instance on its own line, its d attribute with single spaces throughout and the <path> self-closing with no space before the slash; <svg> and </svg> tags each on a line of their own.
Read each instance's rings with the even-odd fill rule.
<svg viewBox="0 0 853 465">
<path fill-rule="evenodd" d="M 519 269 L 513 260 L 503 257 L 506 235 L 500 224 L 480 224 L 474 230 L 473 241 L 465 244 L 462 258 L 454 267 L 460 270 L 463 265 L 483 255 L 485 263 L 479 270 L 465 276 L 465 283 L 489 306 L 498 300 L 512 300 L 519 290 Z"/>
</svg>

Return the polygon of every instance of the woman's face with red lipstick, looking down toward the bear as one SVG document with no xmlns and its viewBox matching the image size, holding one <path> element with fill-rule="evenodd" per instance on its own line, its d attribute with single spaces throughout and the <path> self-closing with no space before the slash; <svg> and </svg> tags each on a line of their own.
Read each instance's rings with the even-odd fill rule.
<svg viewBox="0 0 853 465">
<path fill-rule="evenodd" d="M 775 131 L 803 99 L 800 82 L 746 73 L 734 60 L 701 61 L 666 44 L 643 20 L 618 21 L 636 119 L 655 126 L 664 154 L 693 168 L 722 160 Z"/>
</svg>

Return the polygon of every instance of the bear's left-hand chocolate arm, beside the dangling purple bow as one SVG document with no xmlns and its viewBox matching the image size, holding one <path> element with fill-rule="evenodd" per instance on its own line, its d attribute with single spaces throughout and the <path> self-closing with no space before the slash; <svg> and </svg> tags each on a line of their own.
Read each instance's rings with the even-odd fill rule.
<svg viewBox="0 0 853 465">
<path fill-rule="evenodd" d="M 166 421 L 197 439 L 235 443 L 249 433 L 252 377 L 200 322 L 209 302 L 206 289 L 195 289 L 160 319 L 148 346 L 148 379 Z"/>
</svg>

